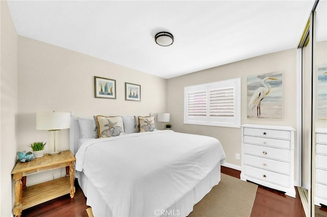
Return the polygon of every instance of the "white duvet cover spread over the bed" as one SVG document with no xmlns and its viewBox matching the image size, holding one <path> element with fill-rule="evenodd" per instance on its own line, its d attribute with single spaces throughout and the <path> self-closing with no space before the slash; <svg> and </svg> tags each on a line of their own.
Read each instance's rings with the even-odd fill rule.
<svg viewBox="0 0 327 217">
<path fill-rule="evenodd" d="M 225 160 L 212 137 L 171 130 L 92 139 L 76 153 L 113 216 L 156 216 Z"/>
</svg>

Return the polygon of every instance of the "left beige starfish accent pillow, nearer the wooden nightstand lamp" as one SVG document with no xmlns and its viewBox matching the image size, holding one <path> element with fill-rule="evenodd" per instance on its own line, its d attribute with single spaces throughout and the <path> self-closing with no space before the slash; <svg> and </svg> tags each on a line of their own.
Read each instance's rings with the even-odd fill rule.
<svg viewBox="0 0 327 217">
<path fill-rule="evenodd" d="M 97 117 L 99 138 L 117 137 L 124 133 L 123 118 L 121 116 Z"/>
</svg>

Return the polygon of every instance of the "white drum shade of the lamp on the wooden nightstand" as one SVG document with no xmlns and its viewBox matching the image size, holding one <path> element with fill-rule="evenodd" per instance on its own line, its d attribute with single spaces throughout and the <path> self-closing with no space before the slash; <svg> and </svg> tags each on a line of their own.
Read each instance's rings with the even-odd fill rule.
<svg viewBox="0 0 327 217">
<path fill-rule="evenodd" d="M 71 113 L 41 112 L 36 113 L 36 129 L 55 130 L 71 127 Z"/>
</svg>

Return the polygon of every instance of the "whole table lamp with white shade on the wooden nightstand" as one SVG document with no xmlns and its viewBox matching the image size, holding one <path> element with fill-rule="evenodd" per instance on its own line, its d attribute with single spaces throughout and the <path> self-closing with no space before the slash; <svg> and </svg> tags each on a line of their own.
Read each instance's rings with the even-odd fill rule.
<svg viewBox="0 0 327 217">
<path fill-rule="evenodd" d="M 71 127 L 71 113 L 41 112 L 36 113 L 36 129 L 49 130 L 49 155 L 60 154 L 60 130 Z"/>
</svg>

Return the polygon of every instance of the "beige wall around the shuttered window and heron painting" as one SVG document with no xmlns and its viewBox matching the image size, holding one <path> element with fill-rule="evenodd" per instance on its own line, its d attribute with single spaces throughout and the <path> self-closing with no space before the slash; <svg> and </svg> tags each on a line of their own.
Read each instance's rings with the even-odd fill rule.
<svg viewBox="0 0 327 217">
<path fill-rule="evenodd" d="M 246 102 L 247 76 L 275 71 L 283 72 L 283 119 L 248 119 Z M 167 83 L 167 112 L 171 114 L 173 130 L 209 135 L 217 138 L 222 143 L 226 152 L 226 162 L 241 166 L 241 160 L 235 159 L 235 154 L 241 153 L 240 128 L 183 124 L 184 87 L 236 77 L 241 77 L 242 79 L 241 124 L 286 125 L 296 128 L 296 49 L 270 53 L 268 55 L 171 78 Z"/>
</svg>

